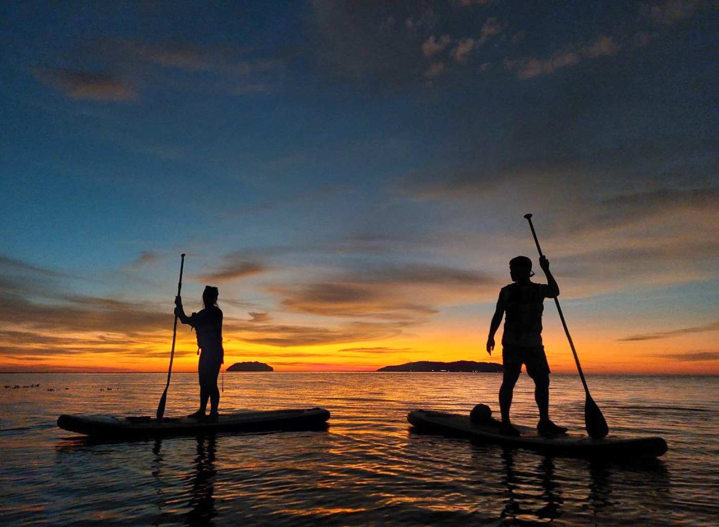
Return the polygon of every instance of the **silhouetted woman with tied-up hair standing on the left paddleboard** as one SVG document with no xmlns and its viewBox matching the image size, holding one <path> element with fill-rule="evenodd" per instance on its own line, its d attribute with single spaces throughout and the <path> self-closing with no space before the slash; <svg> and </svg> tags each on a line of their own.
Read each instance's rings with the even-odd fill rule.
<svg viewBox="0 0 719 527">
<path fill-rule="evenodd" d="M 202 293 L 204 309 L 187 316 L 182 307 L 182 298 L 175 298 L 175 315 L 180 322 L 189 324 L 197 334 L 197 352 L 200 354 L 198 374 L 200 377 L 200 409 L 190 417 L 199 420 L 216 421 L 220 403 L 220 390 L 217 389 L 217 375 L 224 362 L 222 349 L 222 311 L 217 307 L 219 291 L 206 285 Z M 210 415 L 205 417 L 207 400 L 210 400 Z"/>
</svg>

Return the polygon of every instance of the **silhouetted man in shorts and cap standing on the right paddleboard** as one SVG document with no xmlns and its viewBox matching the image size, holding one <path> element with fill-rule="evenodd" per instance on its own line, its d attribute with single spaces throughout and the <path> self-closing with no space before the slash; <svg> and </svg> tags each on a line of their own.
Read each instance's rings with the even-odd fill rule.
<svg viewBox="0 0 719 527">
<path fill-rule="evenodd" d="M 526 256 L 518 256 L 509 261 L 509 274 L 513 283 L 506 285 L 499 292 L 497 309 L 490 324 L 487 337 L 487 353 L 492 354 L 495 347 L 494 335 L 502 322 L 502 366 L 504 374 L 502 387 L 499 390 L 499 405 L 502 411 L 503 434 L 520 435 L 509 420 L 509 409 L 512 405 L 512 394 L 522 365 L 526 366 L 527 375 L 534 381 L 534 399 L 539 408 L 537 431 L 543 436 L 564 434 L 567 431 L 549 419 L 549 364 L 546 362 L 544 346 L 541 343 L 541 314 L 544 311 L 544 298 L 559 296 L 557 281 L 549 272 L 549 260 L 539 259 L 539 266 L 546 275 L 546 284 L 533 283 L 529 280 L 532 272 L 532 261 Z"/>
</svg>

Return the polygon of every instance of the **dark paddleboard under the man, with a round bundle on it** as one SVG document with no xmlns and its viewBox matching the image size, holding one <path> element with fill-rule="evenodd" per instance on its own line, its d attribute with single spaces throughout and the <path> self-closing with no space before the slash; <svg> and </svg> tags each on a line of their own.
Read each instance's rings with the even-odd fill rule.
<svg viewBox="0 0 719 527">
<path fill-rule="evenodd" d="M 616 437 L 591 439 L 584 434 L 563 434 L 543 437 L 529 426 L 515 425 L 521 436 L 500 434 L 498 421 L 486 424 L 470 421 L 469 416 L 456 413 L 411 411 L 407 416 L 418 431 L 449 436 L 464 436 L 483 443 L 500 444 L 536 450 L 545 454 L 572 457 L 595 457 L 602 459 L 626 459 L 628 457 L 659 457 L 667 452 L 667 441 L 661 437 Z"/>
</svg>

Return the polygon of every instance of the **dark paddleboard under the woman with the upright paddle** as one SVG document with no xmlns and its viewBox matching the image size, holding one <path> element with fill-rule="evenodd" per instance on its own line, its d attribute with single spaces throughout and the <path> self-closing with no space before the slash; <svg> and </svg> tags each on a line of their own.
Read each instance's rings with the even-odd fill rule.
<svg viewBox="0 0 719 527">
<path fill-rule="evenodd" d="M 324 408 L 293 410 L 242 411 L 220 414 L 215 422 L 197 421 L 188 417 L 157 418 L 114 417 L 99 415 L 68 415 L 58 418 L 63 430 L 102 439 L 136 439 L 160 436 L 188 436 L 216 432 L 255 432 L 319 429 L 329 419 Z"/>
</svg>

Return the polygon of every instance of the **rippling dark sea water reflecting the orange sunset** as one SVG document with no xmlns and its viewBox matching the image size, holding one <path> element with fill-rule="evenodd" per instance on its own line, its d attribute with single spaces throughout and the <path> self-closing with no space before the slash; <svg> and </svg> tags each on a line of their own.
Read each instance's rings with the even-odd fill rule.
<svg viewBox="0 0 719 527">
<path fill-rule="evenodd" d="M 613 434 L 667 439 L 669 452 L 649 462 L 546 457 L 411 430 L 415 408 L 496 410 L 500 375 L 481 373 L 224 375 L 221 411 L 319 405 L 331 411 L 326 431 L 93 443 L 55 426 L 60 413 L 153 415 L 165 377 L 0 375 L 0 524 L 718 524 L 717 376 L 588 378 Z M 197 393 L 196 375 L 173 375 L 165 415 L 195 410 Z M 576 375 L 552 376 L 555 421 L 583 429 L 583 403 Z M 526 375 L 513 418 L 536 422 Z"/>
</svg>

